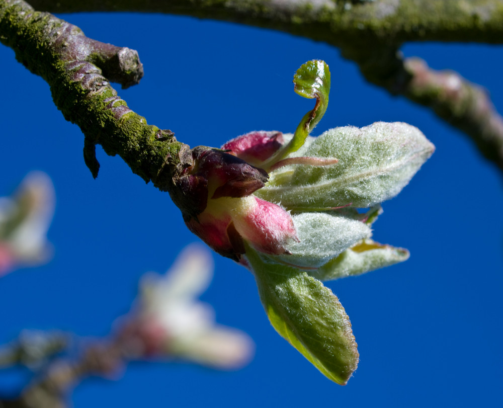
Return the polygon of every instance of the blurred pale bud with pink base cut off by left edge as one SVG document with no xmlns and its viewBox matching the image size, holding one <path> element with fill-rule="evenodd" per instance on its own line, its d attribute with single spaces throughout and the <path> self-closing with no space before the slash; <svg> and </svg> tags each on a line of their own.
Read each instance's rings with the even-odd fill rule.
<svg viewBox="0 0 503 408">
<path fill-rule="evenodd" d="M 0 276 L 50 259 L 46 234 L 54 206 L 54 187 L 42 172 L 29 173 L 11 197 L 0 197 Z"/>
</svg>

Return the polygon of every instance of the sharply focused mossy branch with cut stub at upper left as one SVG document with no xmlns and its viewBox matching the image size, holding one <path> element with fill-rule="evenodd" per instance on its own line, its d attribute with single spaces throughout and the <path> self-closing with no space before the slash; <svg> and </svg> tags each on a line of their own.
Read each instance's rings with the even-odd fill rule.
<svg viewBox="0 0 503 408">
<path fill-rule="evenodd" d="M 136 51 L 87 38 L 78 27 L 35 12 L 21 0 L 0 0 L 0 41 L 47 81 L 65 119 L 80 127 L 86 163 L 95 177 L 95 145 L 101 144 L 146 182 L 172 192 L 188 146 L 170 130 L 148 125 L 109 84 L 113 80 L 126 88 L 138 83 L 143 67 Z"/>
</svg>

